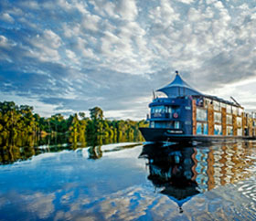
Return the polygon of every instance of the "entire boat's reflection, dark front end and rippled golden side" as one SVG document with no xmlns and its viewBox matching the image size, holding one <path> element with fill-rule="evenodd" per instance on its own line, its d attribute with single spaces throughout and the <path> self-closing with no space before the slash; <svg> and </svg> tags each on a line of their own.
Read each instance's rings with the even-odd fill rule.
<svg viewBox="0 0 256 221">
<path fill-rule="evenodd" d="M 144 145 L 148 179 L 180 206 L 193 195 L 251 176 L 256 143 L 223 143 L 208 147 Z M 181 210 L 182 211 L 182 210 Z"/>
</svg>

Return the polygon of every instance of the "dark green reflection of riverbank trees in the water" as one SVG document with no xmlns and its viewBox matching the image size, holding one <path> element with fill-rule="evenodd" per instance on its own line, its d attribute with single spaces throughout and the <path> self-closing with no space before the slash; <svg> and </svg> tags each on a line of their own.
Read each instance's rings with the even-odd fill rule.
<svg viewBox="0 0 256 221">
<path fill-rule="evenodd" d="M 94 135 L 86 137 L 85 134 L 50 135 L 40 137 L 36 135 L 0 136 L 0 164 L 14 163 L 30 159 L 33 155 L 46 152 L 59 152 L 62 150 L 76 150 L 90 146 L 91 159 L 101 158 L 101 146 L 116 142 L 138 142 L 140 138 L 128 140 L 125 137 L 108 138 Z M 96 149 L 93 151 L 93 149 Z M 93 153 L 94 152 L 94 153 Z M 94 154 L 94 156 L 92 156 Z"/>
</svg>

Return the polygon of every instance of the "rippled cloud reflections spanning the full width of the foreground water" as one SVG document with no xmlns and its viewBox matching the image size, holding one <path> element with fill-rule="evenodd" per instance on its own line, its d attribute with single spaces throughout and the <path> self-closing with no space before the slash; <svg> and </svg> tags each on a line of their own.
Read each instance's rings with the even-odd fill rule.
<svg viewBox="0 0 256 221">
<path fill-rule="evenodd" d="M 155 193 L 153 186 L 148 184 L 133 185 L 112 195 L 99 197 L 69 185 L 52 194 L 15 194 L 15 198 L 19 208 L 27 213 L 25 218 L 56 221 L 161 220 L 163 217 L 165 220 L 190 220 L 192 217 L 197 217 L 197 220 L 255 220 L 255 201 L 251 198 L 255 192 L 256 185 L 252 179 L 236 185 L 219 186 L 194 196 L 183 205 L 183 214 L 179 214 L 178 205 L 173 200 L 167 195 Z M 5 206 L 7 198 L 0 198 L 0 205 Z"/>
</svg>

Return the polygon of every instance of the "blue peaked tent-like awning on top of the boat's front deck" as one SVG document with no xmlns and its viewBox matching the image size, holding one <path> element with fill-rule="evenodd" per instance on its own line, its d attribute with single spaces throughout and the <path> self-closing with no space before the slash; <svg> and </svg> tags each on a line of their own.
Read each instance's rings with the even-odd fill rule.
<svg viewBox="0 0 256 221">
<path fill-rule="evenodd" d="M 189 86 L 186 81 L 181 79 L 177 71 L 176 78 L 170 84 L 166 85 L 162 89 L 157 89 L 156 91 L 164 92 L 168 98 L 176 98 L 191 95 L 203 95 L 196 89 L 193 89 L 191 86 Z"/>
</svg>

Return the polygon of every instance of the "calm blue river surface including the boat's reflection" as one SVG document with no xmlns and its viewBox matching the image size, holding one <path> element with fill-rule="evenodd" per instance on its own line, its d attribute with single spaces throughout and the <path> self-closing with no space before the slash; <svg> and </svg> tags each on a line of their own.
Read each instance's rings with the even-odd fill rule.
<svg viewBox="0 0 256 221">
<path fill-rule="evenodd" d="M 0 165 L 0 220 L 256 220 L 256 142 L 32 153 Z"/>
</svg>

